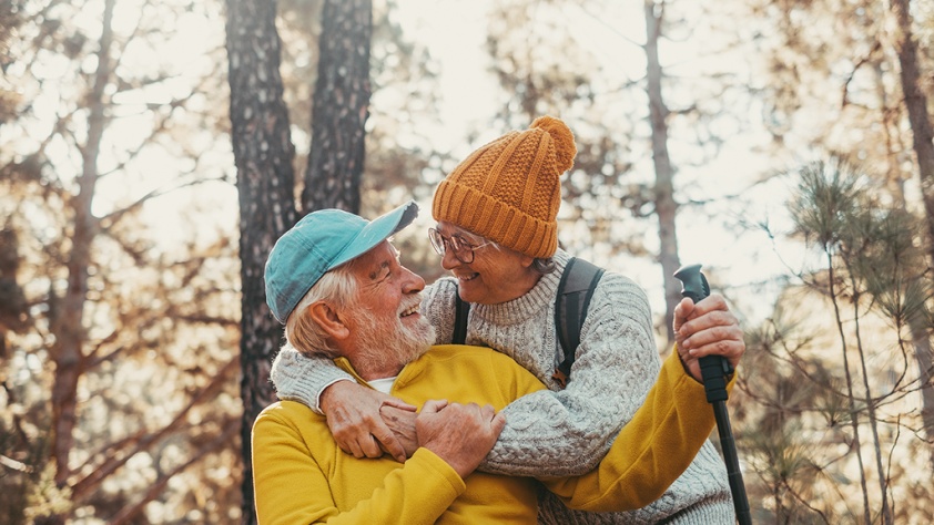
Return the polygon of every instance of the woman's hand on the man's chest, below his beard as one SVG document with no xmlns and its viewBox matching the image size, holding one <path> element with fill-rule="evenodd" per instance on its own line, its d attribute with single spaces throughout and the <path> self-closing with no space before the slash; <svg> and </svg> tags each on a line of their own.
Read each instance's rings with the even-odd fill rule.
<svg viewBox="0 0 934 525">
<path fill-rule="evenodd" d="M 384 405 L 415 412 L 415 406 L 353 381 L 338 381 L 321 394 L 321 410 L 341 450 L 354 457 L 379 457 L 385 450 L 404 462 L 405 449 L 379 416 Z"/>
</svg>

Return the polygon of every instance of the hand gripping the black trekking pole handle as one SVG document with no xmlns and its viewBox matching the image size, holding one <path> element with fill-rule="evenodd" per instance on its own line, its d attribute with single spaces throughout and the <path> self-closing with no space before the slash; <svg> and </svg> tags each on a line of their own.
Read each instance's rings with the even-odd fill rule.
<svg viewBox="0 0 934 525">
<path fill-rule="evenodd" d="M 740 325 L 719 294 L 697 305 L 689 298 L 681 299 L 674 307 L 674 339 L 681 362 L 698 381 L 702 381 L 699 358 L 723 356 L 735 368 L 745 352 Z"/>
</svg>

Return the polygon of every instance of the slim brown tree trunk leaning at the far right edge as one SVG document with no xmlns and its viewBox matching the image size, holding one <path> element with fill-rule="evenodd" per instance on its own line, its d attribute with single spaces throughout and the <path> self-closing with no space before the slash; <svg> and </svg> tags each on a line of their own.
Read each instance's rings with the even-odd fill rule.
<svg viewBox="0 0 934 525">
<path fill-rule="evenodd" d="M 902 92 L 912 126 L 913 145 L 917 157 L 921 192 L 927 224 L 927 256 L 934 264 L 934 130 L 927 115 L 927 99 L 921 90 L 921 73 L 917 64 L 917 44 L 912 37 L 912 20 L 907 0 L 892 0 L 892 11 L 899 27 L 899 63 L 901 64 Z M 912 319 L 915 358 L 917 360 L 922 399 L 923 422 L 927 439 L 934 437 L 934 384 L 932 384 L 931 330 L 923 320 Z M 934 470 L 934 455 L 932 456 Z"/>
</svg>

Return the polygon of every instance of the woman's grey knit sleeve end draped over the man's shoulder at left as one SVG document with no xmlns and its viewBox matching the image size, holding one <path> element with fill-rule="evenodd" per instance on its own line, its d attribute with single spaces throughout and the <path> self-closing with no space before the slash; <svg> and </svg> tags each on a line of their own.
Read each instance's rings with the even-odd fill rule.
<svg viewBox="0 0 934 525">
<path fill-rule="evenodd" d="M 354 378 L 324 357 L 306 357 L 285 344 L 273 360 L 270 380 L 281 400 L 297 401 L 321 414 L 321 393 L 337 381 Z"/>
</svg>

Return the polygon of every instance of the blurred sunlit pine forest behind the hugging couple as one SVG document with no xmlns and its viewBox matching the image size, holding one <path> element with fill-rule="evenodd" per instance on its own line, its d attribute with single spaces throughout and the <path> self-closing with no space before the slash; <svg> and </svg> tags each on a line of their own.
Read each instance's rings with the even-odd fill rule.
<svg viewBox="0 0 934 525">
<path fill-rule="evenodd" d="M 413 197 L 432 281 L 434 186 L 541 114 L 659 351 L 682 262 L 741 317 L 753 521 L 931 523 L 932 2 L 0 0 L 0 523 L 253 523 L 272 243 Z"/>
</svg>

